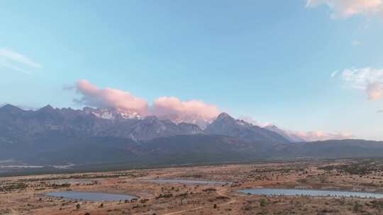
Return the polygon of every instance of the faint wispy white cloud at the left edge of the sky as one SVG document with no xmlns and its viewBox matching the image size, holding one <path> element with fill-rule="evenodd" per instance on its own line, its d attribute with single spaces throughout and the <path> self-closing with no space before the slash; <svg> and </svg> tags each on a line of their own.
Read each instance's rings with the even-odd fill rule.
<svg viewBox="0 0 383 215">
<path fill-rule="evenodd" d="M 0 66 L 23 74 L 31 74 L 28 69 L 40 69 L 43 67 L 23 54 L 4 48 L 0 48 Z"/>
</svg>

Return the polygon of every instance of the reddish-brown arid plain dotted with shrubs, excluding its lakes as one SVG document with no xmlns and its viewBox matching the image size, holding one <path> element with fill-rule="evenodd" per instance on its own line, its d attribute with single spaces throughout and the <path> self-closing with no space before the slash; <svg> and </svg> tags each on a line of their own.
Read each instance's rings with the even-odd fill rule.
<svg viewBox="0 0 383 215">
<path fill-rule="evenodd" d="M 382 170 L 382 160 L 360 159 L 6 177 L 0 178 L 0 214 L 383 214 L 383 199 L 269 197 L 237 192 L 251 187 L 293 187 L 383 193 Z M 145 181 L 156 178 L 231 183 Z M 138 198 L 87 202 L 44 195 L 60 191 L 108 192 Z"/>
</svg>

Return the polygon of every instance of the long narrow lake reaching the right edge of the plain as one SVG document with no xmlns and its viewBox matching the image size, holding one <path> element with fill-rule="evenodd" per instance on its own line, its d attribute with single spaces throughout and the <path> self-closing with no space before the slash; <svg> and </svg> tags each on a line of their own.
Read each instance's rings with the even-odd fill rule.
<svg viewBox="0 0 383 215">
<path fill-rule="evenodd" d="M 383 199 L 383 194 L 372 192 L 348 192 L 335 190 L 304 190 L 304 189 L 277 189 L 277 188 L 255 188 L 239 190 L 238 192 L 270 195 L 270 196 L 311 196 L 311 197 L 360 197 L 360 198 L 376 198 Z"/>
</svg>

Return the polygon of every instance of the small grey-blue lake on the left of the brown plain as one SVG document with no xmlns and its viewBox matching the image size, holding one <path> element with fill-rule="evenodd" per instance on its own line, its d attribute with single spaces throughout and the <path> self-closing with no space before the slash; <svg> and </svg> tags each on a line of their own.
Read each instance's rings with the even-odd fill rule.
<svg viewBox="0 0 383 215">
<path fill-rule="evenodd" d="M 76 199 L 85 201 L 124 201 L 131 200 L 137 197 L 126 194 L 111 194 L 104 192 L 48 192 L 45 193 L 48 197 L 62 197 L 65 199 Z"/>
</svg>

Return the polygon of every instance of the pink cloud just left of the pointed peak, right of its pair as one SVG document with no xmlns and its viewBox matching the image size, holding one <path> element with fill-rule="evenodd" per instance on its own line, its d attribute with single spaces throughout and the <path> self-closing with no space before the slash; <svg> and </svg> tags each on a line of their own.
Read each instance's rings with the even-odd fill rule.
<svg viewBox="0 0 383 215">
<path fill-rule="evenodd" d="M 157 98 L 151 109 L 154 115 L 174 122 L 209 122 L 220 113 L 216 105 L 208 105 L 201 100 L 181 101 L 175 97 Z"/>
</svg>

